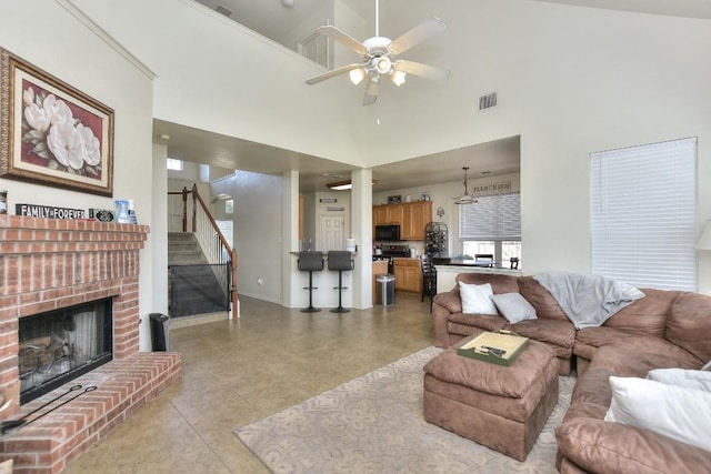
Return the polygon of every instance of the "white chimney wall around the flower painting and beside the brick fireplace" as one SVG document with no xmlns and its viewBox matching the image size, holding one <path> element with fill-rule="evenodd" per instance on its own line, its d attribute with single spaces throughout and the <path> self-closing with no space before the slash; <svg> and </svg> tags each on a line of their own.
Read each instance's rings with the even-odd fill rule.
<svg viewBox="0 0 711 474">
<path fill-rule="evenodd" d="M 133 199 L 140 223 L 153 220 L 152 74 L 130 54 L 102 39 L 72 16 L 62 1 L 4 1 L 0 47 L 91 95 L 114 111 L 113 196 Z M 39 27 L 41 26 L 41 27 Z M 113 209 L 113 199 L 0 178 L 10 210 L 18 202 L 67 208 Z M 150 233 L 140 253 L 140 349 L 150 349 L 147 315 L 156 309 L 153 249 L 164 238 Z M 159 303 L 161 306 L 162 303 Z"/>
</svg>

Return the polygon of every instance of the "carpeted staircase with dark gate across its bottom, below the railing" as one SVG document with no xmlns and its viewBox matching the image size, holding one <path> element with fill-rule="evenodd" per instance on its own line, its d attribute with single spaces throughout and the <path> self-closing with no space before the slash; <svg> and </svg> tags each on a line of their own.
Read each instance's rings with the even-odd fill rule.
<svg viewBox="0 0 711 474">
<path fill-rule="evenodd" d="M 224 319 L 229 304 L 220 265 L 211 265 L 190 232 L 168 233 L 170 316 L 216 315 Z"/>
</svg>

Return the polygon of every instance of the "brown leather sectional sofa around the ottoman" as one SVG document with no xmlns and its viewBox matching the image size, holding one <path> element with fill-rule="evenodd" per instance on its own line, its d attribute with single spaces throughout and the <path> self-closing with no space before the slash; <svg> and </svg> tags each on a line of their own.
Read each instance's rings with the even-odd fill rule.
<svg viewBox="0 0 711 474">
<path fill-rule="evenodd" d="M 641 289 L 644 297 L 602 326 L 575 330 L 555 299 L 532 276 L 462 273 L 458 281 L 491 283 L 493 293 L 519 292 L 538 320 L 509 324 L 498 315 L 463 314 L 459 289 L 433 301 L 434 345 L 449 347 L 482 331 L 509 329 L 547 343 L 560 374 L 577 364 L 570 409 L 557 428 L 561 473 L 711 472 L 711 452 L 629 425 L 605 422 L 609 377 L 645 377 L 652 369 L 698 370 L 711 360 L 711 296 Z"/>
</svg>

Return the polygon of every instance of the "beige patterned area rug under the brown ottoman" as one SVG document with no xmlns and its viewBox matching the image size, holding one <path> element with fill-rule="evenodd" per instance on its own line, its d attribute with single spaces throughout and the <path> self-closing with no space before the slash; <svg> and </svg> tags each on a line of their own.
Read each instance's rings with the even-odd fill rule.
<svg viewBox="0 0 711 474">
<path fill-rule="evenodd" d="M 234 433 L 273 473 L 555 473 L 558 426 L 574 380 L 521 463 L 422 417 L 428 347 Z"/>
</svg>

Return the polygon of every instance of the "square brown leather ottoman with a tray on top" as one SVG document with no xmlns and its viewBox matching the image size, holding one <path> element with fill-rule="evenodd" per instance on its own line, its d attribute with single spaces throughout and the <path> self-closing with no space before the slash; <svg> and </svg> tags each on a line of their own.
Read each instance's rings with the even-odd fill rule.
<svg viewBox="0 0 711 474">
<path fill-rule="evenodd" d="M 530 341 L 505 367 L 445 350 L 424 366 L 424 420 L 524 461 L 558 403 L 558 359 Z"/>
</svg>

